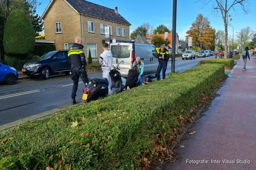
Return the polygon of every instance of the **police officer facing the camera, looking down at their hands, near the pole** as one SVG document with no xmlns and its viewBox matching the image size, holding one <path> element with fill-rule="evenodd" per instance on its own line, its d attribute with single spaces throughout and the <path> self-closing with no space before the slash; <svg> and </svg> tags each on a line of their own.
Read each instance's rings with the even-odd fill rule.
<svg viewBox="0 0 256 170">
<path fill-rule="evenodd" d="M 158 51 L 157 58 L 158 58 L 159 65 L 157 67 L 156 79 L 159 81 L 161 70 L 162 70 L 163 79 L 165 79 L 165 71 L 167 69 L 167 63 L 170 58 L 169 52 L 166 49 L 166 46 L 164 44 L 161 45 L 161 48 Z"/>
</svg>

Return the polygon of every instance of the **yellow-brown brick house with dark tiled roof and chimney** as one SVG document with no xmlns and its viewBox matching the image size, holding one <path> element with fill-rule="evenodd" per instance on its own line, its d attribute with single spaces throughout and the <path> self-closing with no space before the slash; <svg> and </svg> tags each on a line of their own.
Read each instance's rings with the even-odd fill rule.
<svg viewBox="0 0 256 170">
<path fill-rule="evenodd" d="M 85 0 L 51 0 L 42 18 L 45 39 L 55 41 L 57 50 L 69 49 L 76 36 L 83 39 L 85 55 L 89 49 L 93 61 L 103 52 L 105 26 L 111 27 L 111 39 L 129 41 L 131 24 L 115 10 Z"/>
</svg>

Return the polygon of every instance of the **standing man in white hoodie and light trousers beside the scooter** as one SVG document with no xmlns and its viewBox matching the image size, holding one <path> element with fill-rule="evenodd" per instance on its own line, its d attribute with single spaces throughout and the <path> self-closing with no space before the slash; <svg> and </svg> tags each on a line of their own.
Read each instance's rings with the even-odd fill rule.
<svg viewBox="0 0 256 170">
<path fill-rule="evenodd" d="M 101 60 L 100 58 L 100 64 L 101 69 L 102 69 L 102 77 L 108 79 L 109 81 L 109 91 L 111 90 L 111 78 L 109 76 L 109 72 L 110 72 L 110 67 L 113 64 L 113 56 L 111 51 L 109 51 L 109 44 L 108 43 L 103 43 L 103 53 L 100 54 L 100 56 L 103 58 L 103 60 Z M 109 66 L 109 67 L 106 67 Z"/>
</svg>

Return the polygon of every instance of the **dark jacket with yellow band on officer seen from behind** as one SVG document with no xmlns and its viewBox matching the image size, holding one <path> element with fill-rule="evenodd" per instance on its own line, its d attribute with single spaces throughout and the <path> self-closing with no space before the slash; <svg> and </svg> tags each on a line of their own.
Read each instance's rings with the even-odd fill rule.
<svg viewBox="0 0 256 170">
<path fill-rule="evenodd" d="M 84 55 L 84 46 L 75 43 L 68 51 L 69 63 L 71 68 L 87 66 L 85 55 Z"/>
</svg>

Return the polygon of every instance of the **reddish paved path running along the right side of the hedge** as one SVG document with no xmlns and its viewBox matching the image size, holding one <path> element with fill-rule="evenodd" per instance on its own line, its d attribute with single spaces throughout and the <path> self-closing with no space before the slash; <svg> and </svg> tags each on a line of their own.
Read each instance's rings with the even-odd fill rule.
<svg viewBox="0 0 256 170">
<path fill-rule="evenodd" d="M 216 97 L 192 131 L 179 145 L 180 161 L 170 163 L 166 170 L 255 170 L 256 169 L 256 61 L 247 59 L 247 71 L 242 71 L 240 59 Z M 207 160 L 191 164 L 186 160 Z M 235 160 L 224 164 L 223 160 Z M 246 160 L 238 164 L 237 159 Z M 211 163 L 211 160 L 220 160 Z M 250 163 L 248 163 L 250 161 Z"/>
</svg>

